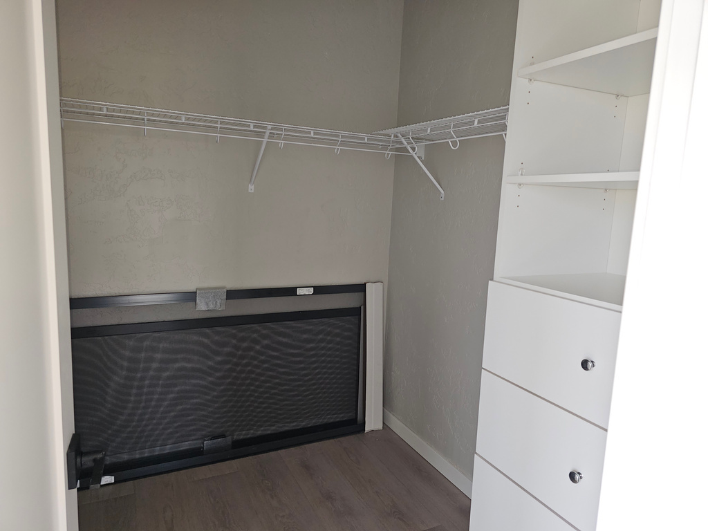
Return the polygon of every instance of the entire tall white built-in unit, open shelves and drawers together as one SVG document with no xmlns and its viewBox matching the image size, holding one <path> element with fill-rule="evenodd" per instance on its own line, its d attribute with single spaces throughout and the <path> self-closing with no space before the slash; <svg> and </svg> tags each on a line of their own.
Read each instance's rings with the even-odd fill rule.
<svg viewBox="0 0 708 531">
<path fill-rule="evenodd" d="M 659 7 L 520 0 L 471 530 L 595 529 Z"/>
</svg>

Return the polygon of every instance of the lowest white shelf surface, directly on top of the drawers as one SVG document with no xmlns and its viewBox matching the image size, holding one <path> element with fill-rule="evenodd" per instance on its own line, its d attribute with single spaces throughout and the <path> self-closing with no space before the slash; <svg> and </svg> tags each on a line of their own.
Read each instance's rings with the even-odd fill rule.
<svg viewBox="0 0 708 531">
<path fill-rule="evenodd" d="M 622 312 L 625 279 L 624 275 L 612 273 L 576 273 L 501 277 L 495 280 Z"/>
</svg>

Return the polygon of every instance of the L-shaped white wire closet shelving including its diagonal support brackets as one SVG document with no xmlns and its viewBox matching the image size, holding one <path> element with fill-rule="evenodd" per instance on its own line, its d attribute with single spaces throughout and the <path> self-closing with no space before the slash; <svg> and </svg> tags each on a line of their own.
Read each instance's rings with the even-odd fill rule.
<svg viewBox="0 0 708 531">
<path fill-rule="evenodd" d="M 387 159 L 392 155 L 413 156 L 440 192 L 440 200 L 445 198 L 445 191 L 421 162 L 424 147 L 427 144 L 448 142 L 452 149 L 457 149 L 460 140 L 492 135 L 504 135 L 506 139 L 509 113 L 506 106 L 372 133 L 358 133 L 76 98 L 59 98 L 59 102 L 62 127 L 64 122 L 91 122 L 134 127 L 141 129 L 144 135 L 147 135 L 148 130 L 156 130 L 207 135 L 215 137 L 217 142 L 222 137 L 258 140 L 261 142 L 261 149 L 251 173 L 249 192 L 254 190 L 265 146 L 268 142 L 278 142 L 281 148 L 284 144 L 329 147 L 334 149 L 336 154 L 346 149 L 379 153 Z"/>
</svg>

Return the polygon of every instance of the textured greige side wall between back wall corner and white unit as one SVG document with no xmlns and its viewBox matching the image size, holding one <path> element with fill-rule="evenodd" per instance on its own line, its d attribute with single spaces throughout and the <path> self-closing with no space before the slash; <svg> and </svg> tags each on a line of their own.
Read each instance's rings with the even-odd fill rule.
<svg viewBox="0 0 708 531">
<path fill-rule="evenodd" d="M 406 0 L 399 125 L 508 104 L 518 2 Z M 472 474 L 502 137 L 396 159 L 384 407 Z"/>
</svg>

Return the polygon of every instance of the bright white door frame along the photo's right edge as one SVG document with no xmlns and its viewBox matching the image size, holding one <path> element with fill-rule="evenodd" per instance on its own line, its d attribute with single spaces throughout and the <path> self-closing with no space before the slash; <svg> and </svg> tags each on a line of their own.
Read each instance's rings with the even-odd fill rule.
<svg viewBox="0 0 708 531">
<path fill-rule="evenodd" d="M 663 0 L 598 530 L 704 529 L 708 3 Z"/>
</svg>

